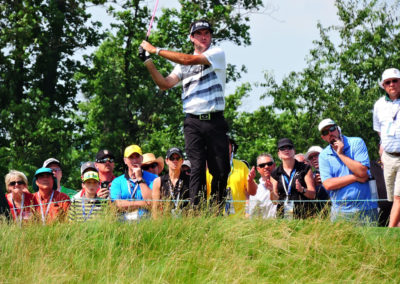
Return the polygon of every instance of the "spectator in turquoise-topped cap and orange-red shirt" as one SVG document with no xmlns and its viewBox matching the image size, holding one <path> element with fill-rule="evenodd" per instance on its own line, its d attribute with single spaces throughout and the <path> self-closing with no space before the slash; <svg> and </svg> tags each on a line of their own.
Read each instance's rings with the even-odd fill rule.
<svg viewBox="0 0 400 284">
<path fill-rule="evenodd" d="M 50 168 L 40 168 L 33 178 L 34 199 L 39 206 L 36 211 L 45 224 L 54 220 L 64 220 L 70 206 L 68 195 L 57 191 L 57 179 Z"/>
</svg>

